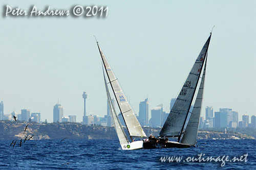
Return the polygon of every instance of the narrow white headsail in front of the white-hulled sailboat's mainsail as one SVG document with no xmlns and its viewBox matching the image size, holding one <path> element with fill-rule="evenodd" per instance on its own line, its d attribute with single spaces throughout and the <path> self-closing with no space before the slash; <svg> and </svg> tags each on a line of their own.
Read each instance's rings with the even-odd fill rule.
<svg viewBox="0 0 256 170">
<path fill-rule="evenodd" d="M 108 103 L 109 103 L 109 106 L 110 106 L 110 114 L 111 114 L 111 117 L 113 118 L 113 123 L 114 123 L 115 129 L 116 129 L 116 133 L 117 133 L 119 142 L 120 142 L 121 145 L 122 144 L 128 144 L 128 143 L 130 143 L 129 139 L 126 136 L 126 134 L 123 130 L 123 127 L 120 123 L 120 120 L 119 120 L 119 118 L 116 114 L 116 111 L 113 107 L 113 103 L 112 103 L 112 100 L 111 100 L 109 88 L 108 88 L 108 85 L 106 84 L 104 70 L 103 70 L 103 76 L 104 76 L 104 81 L 105 81 L 106 96 L 108 98 Z"/>
</svg>

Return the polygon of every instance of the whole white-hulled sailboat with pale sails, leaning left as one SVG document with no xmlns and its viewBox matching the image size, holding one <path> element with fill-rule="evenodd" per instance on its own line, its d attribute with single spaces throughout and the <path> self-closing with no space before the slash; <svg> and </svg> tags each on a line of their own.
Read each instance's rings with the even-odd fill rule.
<svg viewBox="0 0 256 170">
<path fill-rule="evenodd" d="M 142 149 L 143 148 L 143 140 L 137 140 L 134 141 L 135 138 L 143 138 L 147 137 L 145 132 L 140 126 L 140 123 L 138 122 L 133 109 L 131 108 L 130 104 L 127 102 L 126 97 L 117 81 L 117 78 L 114 75 L 114 72 L 112 71 L 108 61 L 106 60 L 99 43 L 97 41 L 97 45 L 99 48 L 100 56 L 104 65 L 103 69 L 103 75 L 104 75 L 104 70 L 106 72 L 106 75 L 108 76 L 109 83 L 111 85 L 111 88 L 114 92 L 118 107 L 120 109 L 121 114 L 117 115 L 113 103 L 111 100 L 109 88 L 108 88 L 108 83 L 106 82 L 105 75 L 104 75 L 104 82 L 105 82 L 105 88 L 106 88 L 106 94 L 108 98 L 108 103 L 110 106 L 110 113 L 113 118 L 114 126 L 117 132 L 117 136 L 119 138 L 119 142 L 121 144 L 122 150 L 136 150 L 136 149 Z M 120 120 L 118 116 L 122 116 L 124 123 L 126 125 L 127 131 L 129 132 L 131 142 L 127 138 L 122 125 L 120 123 Z"/>
</svg>

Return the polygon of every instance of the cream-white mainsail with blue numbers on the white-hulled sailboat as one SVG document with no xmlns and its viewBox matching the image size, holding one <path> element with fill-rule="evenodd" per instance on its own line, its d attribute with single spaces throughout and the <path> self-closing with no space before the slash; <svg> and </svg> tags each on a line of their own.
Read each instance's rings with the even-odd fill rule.
<svg viewBox="0 0 256 170">
<path fill-rule="evenodd" d="M 146 137 L 145 132 L 140 126 L 140 123 L 138 122 L 130 104 L 127 102 L 126 97 L 121 89 L 121 87 L 118 84 L 117 78 L 115 77 L 108 61 L 106 60 L 98 42 L 97 42 L 99 52 L 102 58 L 102 61 L 105 66 L 106 74 L 108 75 L 111 87 L 114 91 L 116 101 L 118 103 L 119 109 L 121 111 L 121 114 L 123 116 L 125 125 L 127 127 L 127 130 L 130 134 L 130 136 L 138 136 L 138 137 Z"/>
</svg>

